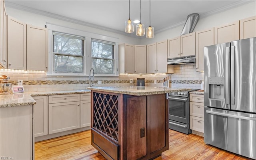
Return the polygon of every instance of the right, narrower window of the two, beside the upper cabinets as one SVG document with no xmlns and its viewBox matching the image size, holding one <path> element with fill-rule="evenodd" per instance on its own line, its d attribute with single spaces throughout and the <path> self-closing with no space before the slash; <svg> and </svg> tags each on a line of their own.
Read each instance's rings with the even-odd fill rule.
<svg viewBox="0 0 256 160">
<path fill-rule="evenodd" d="M 96 74 L 114 74 L 115 43 L 92 39 L 92 68 Z"/>
</svg>

